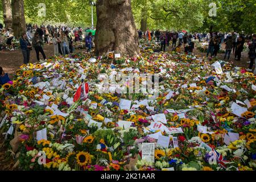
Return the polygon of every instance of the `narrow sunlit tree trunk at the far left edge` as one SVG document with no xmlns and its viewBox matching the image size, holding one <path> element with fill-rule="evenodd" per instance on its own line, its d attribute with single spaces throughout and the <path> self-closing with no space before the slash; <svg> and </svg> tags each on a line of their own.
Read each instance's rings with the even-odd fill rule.
<svg viewBox="0 0 256 182">
<path fill-rule="evenodd" d="M 13 15 L 11 13 L 10 0 L 2 0 L 2 6 L 3 6 L 3 23 L 5 23 L 5 28 L 11 28 L 13 26 Z"/>
</svg>

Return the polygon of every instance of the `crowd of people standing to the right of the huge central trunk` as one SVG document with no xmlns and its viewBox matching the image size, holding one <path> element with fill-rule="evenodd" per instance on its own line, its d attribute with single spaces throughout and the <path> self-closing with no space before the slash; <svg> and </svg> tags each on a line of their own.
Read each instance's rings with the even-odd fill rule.
<svg viewBox="0 0 256 182">
<path fill-rule="evenodd" d="M 207 57 L 213 58 L 217 57 L 218 52 L 220 51 L 221 46 L 225 46 L 225 55 L 224 60 L 230 60 L 232 51 L 234 55 L 234 60 L 240 61 L 242 52 L 244 50 L 245 42 L 247 40 L 247 45 L 249 48 L 249 59 L 250 63 L 248 71 L 252 71 L 253 65 L 255 63 L 255 34 L 254 35 L 244 35 L 238 34 L 237 32 L 210 32 L 206 33 L 194 33 L 190 34 L 187 31 L 150 31 L 147 30 L 146 32 L 142 32 L 138 30 L 139 39 L 146 39 L 146 40 L 155 40 L 155 42 L 160 44 L 160 51 L 166 51 L 166 47 L 169 50 L 180 52 L 181 46 L 183 44 L 184 52 L 185 53 L 192 53 L 193 49 L 195 48 L 195 40 L 201 42 L 205 40 L 208 42 L 209 46 L 207 49 Z M 171 43 L 171 46 L 170 46 Z M 176 46 L 177 44 L 177 46 Z M 169 48 L 171 47 L 171 48 Z"/>
</svg>

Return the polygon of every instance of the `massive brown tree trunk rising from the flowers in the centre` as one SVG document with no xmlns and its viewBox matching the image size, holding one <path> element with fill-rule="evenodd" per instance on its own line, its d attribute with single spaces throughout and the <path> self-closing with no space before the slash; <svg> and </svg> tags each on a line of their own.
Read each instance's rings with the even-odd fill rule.
<svg viewBox="0 0 256 182">
<path fill-rule="evenodd" d="M 131 13 L 131 0 L 97 0 L 96 6 L 96 55 L 110 51 L 138 55 L 138 31 Z"/>
</svg>

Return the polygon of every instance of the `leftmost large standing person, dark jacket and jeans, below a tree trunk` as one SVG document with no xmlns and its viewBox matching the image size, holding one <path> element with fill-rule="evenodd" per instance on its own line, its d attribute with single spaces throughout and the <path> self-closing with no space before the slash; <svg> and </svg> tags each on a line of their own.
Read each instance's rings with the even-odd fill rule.
<svg viewBox="0 0 256 182">
<path fill-rule="evenodd" d="M 19 39 L 19 44 L 23 54 L 23 63 L 24 64 L 30 63 L 30 50 L 32 46 L 30 42 L 28 42 L 26 33 L 22 34 L 22 37 Z"/>
</svg>

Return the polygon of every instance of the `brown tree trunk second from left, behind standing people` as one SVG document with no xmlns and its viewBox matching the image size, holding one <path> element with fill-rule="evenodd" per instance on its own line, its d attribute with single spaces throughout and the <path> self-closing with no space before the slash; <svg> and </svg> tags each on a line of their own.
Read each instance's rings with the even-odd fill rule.
<svg viewBox="0 0 256 182">
<path fill-rule="evenodd" d="M 12 0 L 11 7 L 13 7 L 13 32 L 15 38 L 19 38 L 22 32 L 26 32 L 26 21 L 24 15 L 24 1 Z"/>
</svg>

